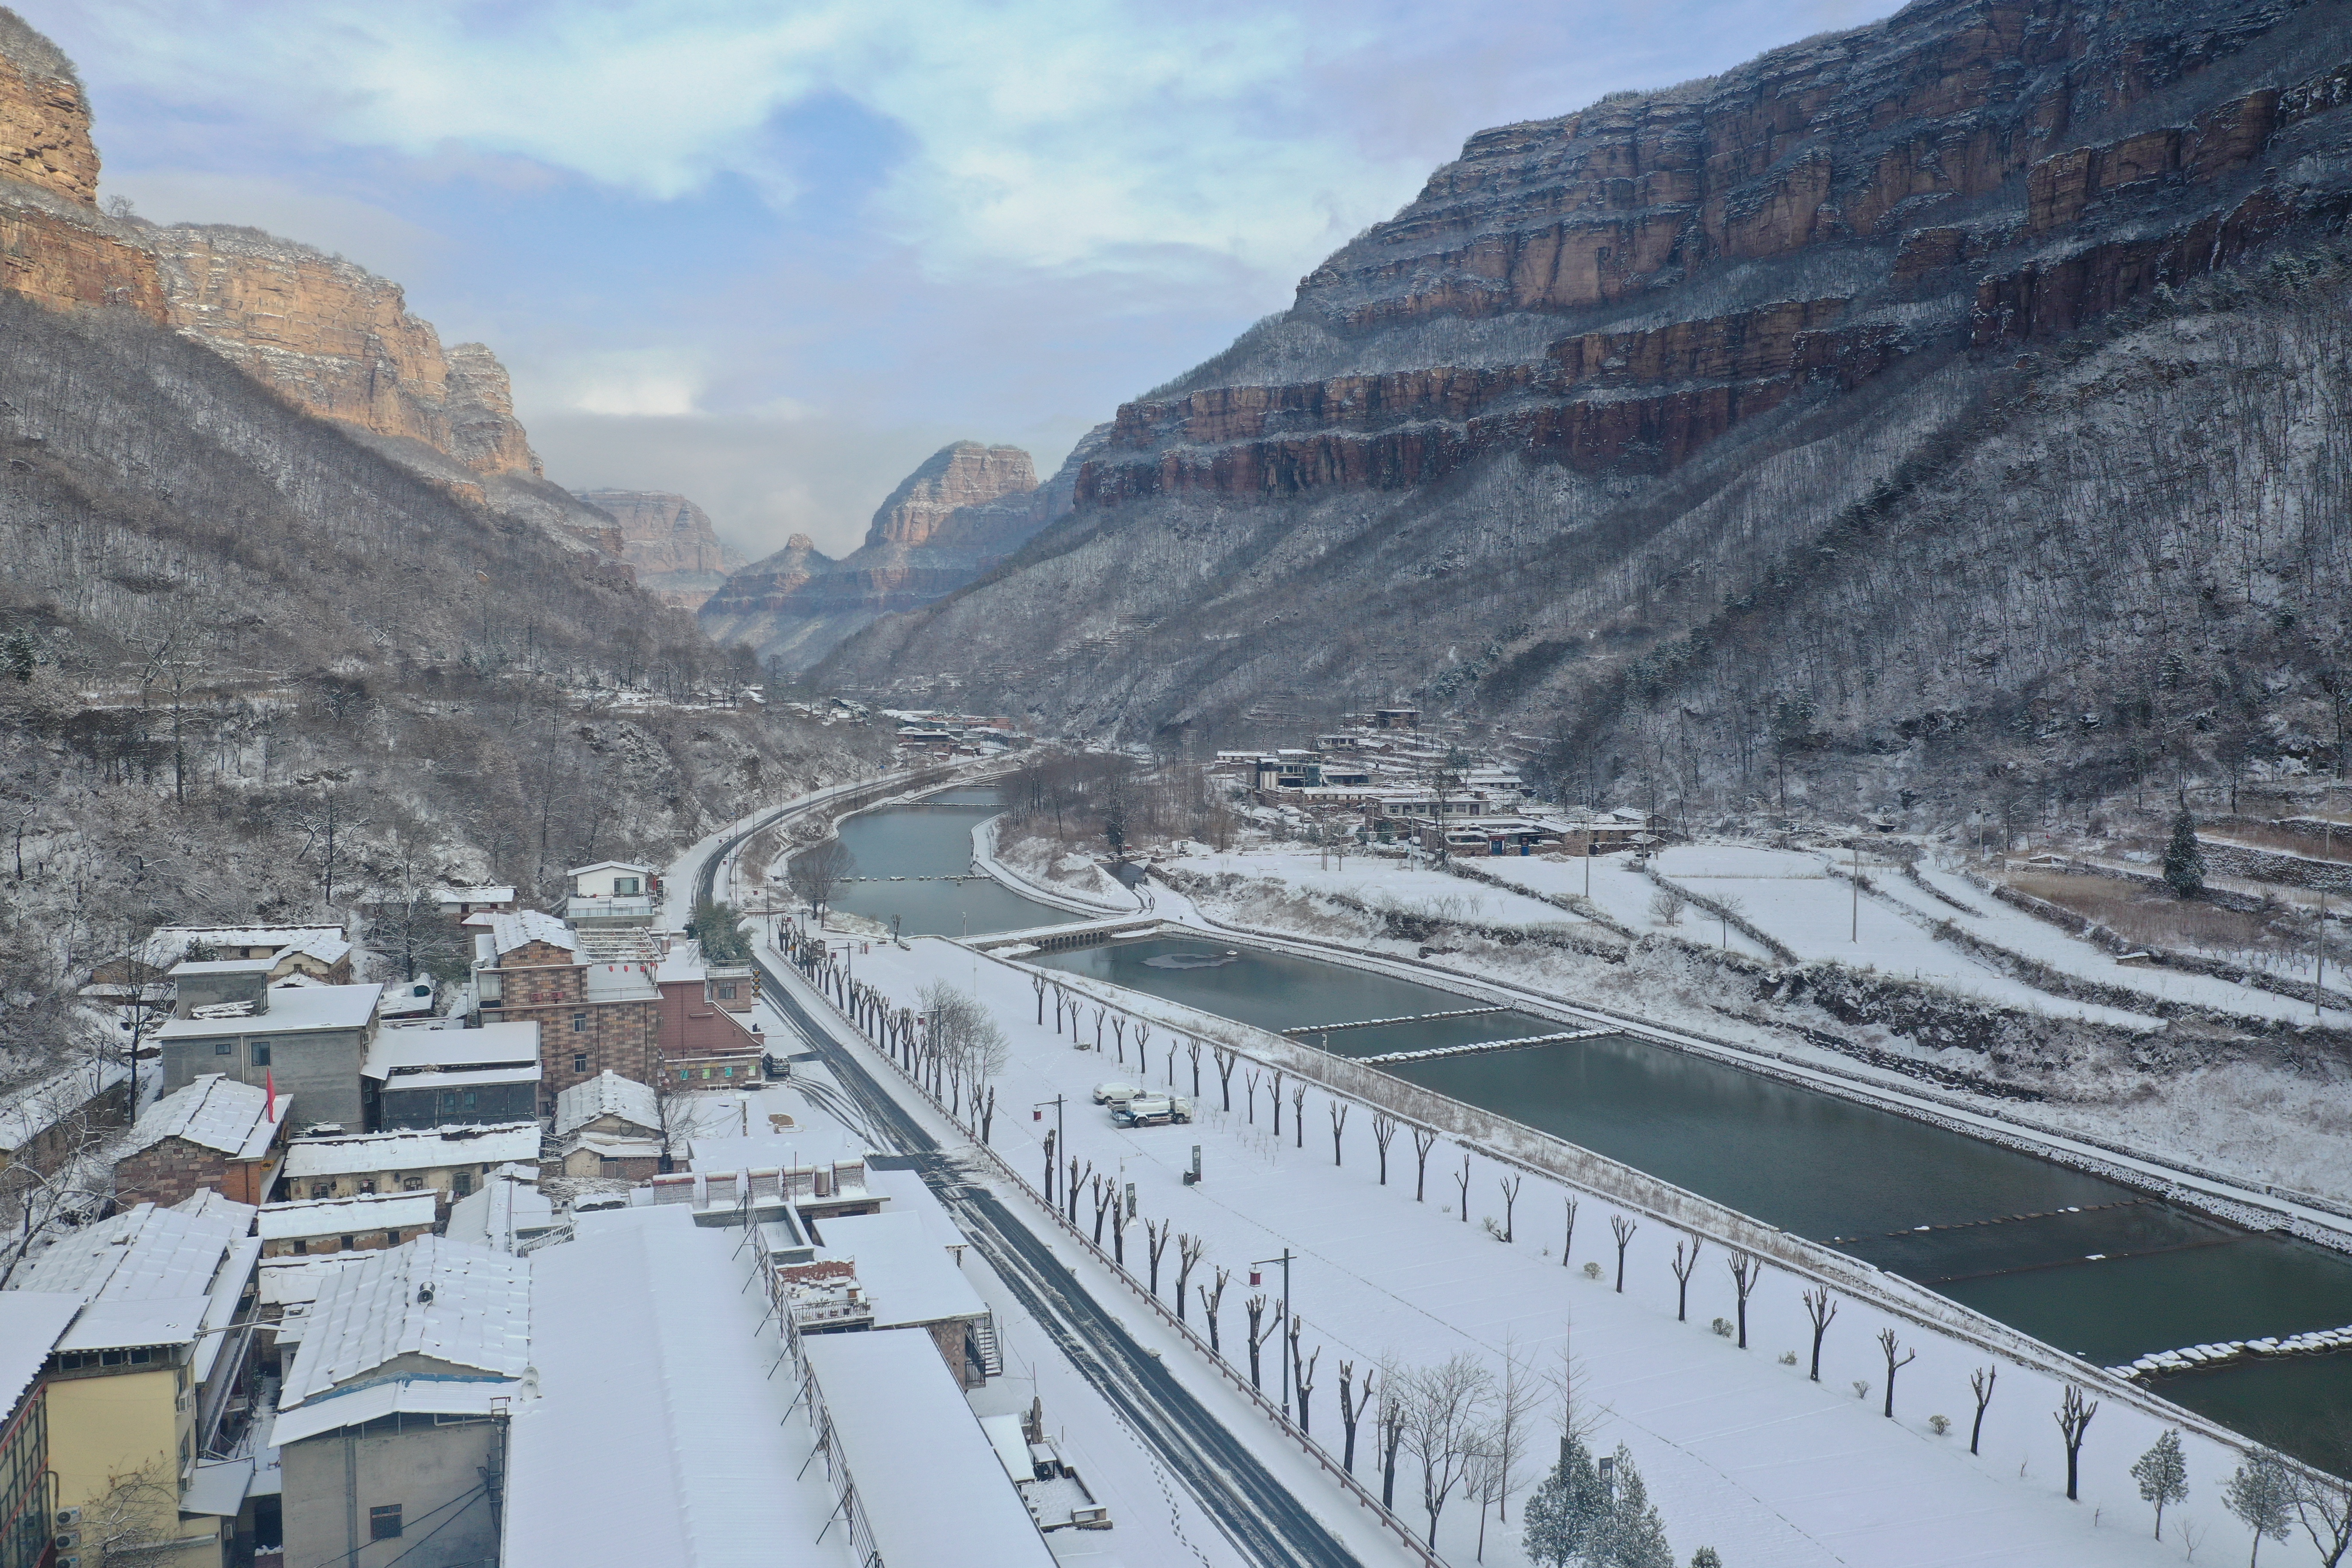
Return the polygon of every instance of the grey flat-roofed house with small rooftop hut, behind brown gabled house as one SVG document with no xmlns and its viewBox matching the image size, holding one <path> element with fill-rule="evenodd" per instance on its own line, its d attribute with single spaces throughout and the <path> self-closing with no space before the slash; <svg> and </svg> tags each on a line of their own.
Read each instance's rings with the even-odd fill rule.
<svg viewBox="0 0 2352 1568">
<path fill-rule="evenodd" d="M 155 1032 L 165 1093 L 219 1072 L 299 1095 L 313 1121 L 365 1126 L 381 985 L 270 985 L 266 959 L 193 959 L 172 978 L 172 1020 Z"/>
</svg>

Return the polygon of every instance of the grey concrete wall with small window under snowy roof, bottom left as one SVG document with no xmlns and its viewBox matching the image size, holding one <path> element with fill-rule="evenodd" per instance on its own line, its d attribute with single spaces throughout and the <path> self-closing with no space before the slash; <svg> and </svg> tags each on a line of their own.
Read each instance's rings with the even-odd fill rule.
<svg viewBox="0 0 2352 1568">
<path fill-rule="evenodd" d="M 390 1415 L 287 1443 L 285 1561 L 339 1568 L 473 1568 L 499 1561 L 482 1472 L 506 1469 L 506 1422 Z M 369 1509 L 400 1507 L 402 1535 L 369 1540 Z M 430 1537 L 428 1537 L 430 1535 Z"/>
</svg>

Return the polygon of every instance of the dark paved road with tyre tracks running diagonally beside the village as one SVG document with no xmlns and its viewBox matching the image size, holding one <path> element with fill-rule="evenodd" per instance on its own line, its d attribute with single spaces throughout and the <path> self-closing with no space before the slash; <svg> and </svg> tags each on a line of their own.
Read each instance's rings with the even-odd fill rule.
<svg viewBox="0 0 2352 1568">
<path fill-rule="evenodd" d="M 764 825 L 764 823 L 762 823 Z M 729 839 L 701 875 L 708 898 L 717 865 L 750 832 Z M 1152 1446 L 1160 1462 L 1214 1519 L 1232 1544 L 1265 1568 L 1357 1568 L 1338 1542 L 1235 1441 L 1216 1415 L 1192 1396 L 1160 1356 L 1145 1352 L 1127 1328 L 1075 1279 L 1068 1265 L 1004 1201 L 967 1180 L 938 1140 L 875 1081 L 866 1065 L 800 1004 L 783 978 L 757 954 L 762 992 L 802 1039 L 823 1058 L 833 1079 L 854 1100 L 856 1121 L 877 1145 L 908 1157 L 924 1185 L 981 1248 L 988 1265 L 1037 1319 L 1087 1382 Z"/>
</svg>

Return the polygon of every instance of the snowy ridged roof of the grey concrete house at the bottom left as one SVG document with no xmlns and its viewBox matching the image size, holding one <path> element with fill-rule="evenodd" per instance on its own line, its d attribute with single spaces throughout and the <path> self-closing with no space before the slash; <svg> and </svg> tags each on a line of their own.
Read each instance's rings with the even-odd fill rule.
<svg viewBox="0 0 2352 1568">
<path fill-rule="evenodd" d="M 532 1363 L 532 1265 L 419 1237 L 329 1274 L 278 1408 L 292 1410 L 395 1356 L 520 1378 Z M 282 1415 L 280 1441 L 292 1441 Z"/>
</svg>

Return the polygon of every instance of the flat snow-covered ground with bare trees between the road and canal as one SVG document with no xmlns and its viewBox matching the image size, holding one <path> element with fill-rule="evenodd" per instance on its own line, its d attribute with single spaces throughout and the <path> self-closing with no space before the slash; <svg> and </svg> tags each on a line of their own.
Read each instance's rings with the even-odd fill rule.
<svg viewBox="0 0 2352 1568">
<path fill-rule="evenodd" d="M 1496 1239 L 1482 1222 L 1503 1220 L 1503 1166 L 1470 1154 L 1470 1213 L 1456 1213 L 1454 1173 L 1463 1150 L 1439 1143 L 1430 1157 L 1428 1201 L 1414 1201 L 1411 1140 L 1390 1150 L 1390 1180 L 1378 1182 L 1369 1110 L 1357 1105 L 1343 1131 L 1345 1164 L 1331 1161 L 1329 1095 L 1312 1091 L 1305 1103 L 1305 1147 L 1296 1143 L 1284 1107 L 1284 1135 L 1272 1138 L 1263 1093 L 1256 1126 L 1240 1112 L 1218 1110 L 1214 1072 L 1204 1074 L 1202 1119 L 1190 1128 L 1122 1133 L 1087 1100 L 1094 1081 L 1115 1077 L 1117 1063 L 1073 1051 L 1051 1027 L 1035 1023 L 1035 997 L 1023 971 L 969 952 L 917 940 L 908 952 L 861 957 L 858 976 L 901 999 L 934 978 L 971 987 L 1002 1023 L 1011 1041 L 1011 1065 L 1000 1079 L 1004 1105 L 1028 1105 L 1068 1095 L 1070 1150 L 1120 1182 L 1134 1182 L 1143 1218 L 1200 1237 L 1207 1246 L 1195 1284 L 1211 1281 L 1214 1267 L 1235 1269 L 1223 1307 L 1223 1338 L 1240 1359 L 1240 1300 L 1251 1260 L 1298 1253 L 1294 1295 L 1305 1324 L 1303 1347 L 1322 1349 L 1315 1378 L 1315 1429 L 1338 1441 L 1336 1363 L 1357 1373 L 1390 1359 L 1430 1366 L 1454 1352 L 1472 1352 L 1501 1368 L 1505 1354 L 1522 1354 L 1534 1368 L 1557 1368 L 1573 1347 L 1581 1375 L 1581 1408 L 1599 1420 L 1597 1441 L 1625 1441 L 1661 1502 L 1677 1561 L 1700 1544 L 1717 1547 L 1740 1568 L 1766 1563 L 2154 1563 L 2173 1561 L 2176 1544 L 2147 1540 L 2147 1516 L 2129 1479 L 2129 1465 L 2157 1439 L 2161 1418 L 2122 1399 L 2107 1399 L 2084 1448 L 2082 1502 L 2063 1495 L 2065 1455 L 2051 1410 L 2058 1382 L 2025 1366 L 2006 1363 L 1985 1418 L 1983 1458 L 1969 1455 L 1966 1378 L 1987 1354 L 1955 1338 L 1940 1338 L 1910 1321 L 1896 1324 L 1877 1309 L 1844 1300 L 1823 1356 L 1823 1380 L 1804 1375 L 1811 1331 L 1799 1305 L 1799 1284 L 1766 1272 L 1750 1302 L 1750 1342 L 1740 1352 L 1710 1333 L 1708 1321 L 1733 1314 L 1733 1288 L 1724 1255 L 1710 1246 L 1691 1281 L 1691 1321 L 1675 1319 L 1675 1279 L 1668 1269 L 1682 1237 L 1644 1220 L 1628 1248 L 1625 1293 L 1606 1279 L 1583 1274 L 1585 1262 L 1613 1269 L 1609 1237 L 1611 1206 L 1581 1197 L 1573 1253 L 1562 1267 L 1564 1190 L 1545 1178 L 1526 1178 L 1512 1208 L 1515 1239 Z M 1150 1013 L 1157 1004 L 1136 997 Z M 903 1079 L 887 1074 L 906 1098 Z M 1178 1086 L 1190 1088 L 1190 1065 L 1178 1060 Z M 1152 1077 L 1164 1077 L 1155 1063 Z M 1240 1088 L 1240 1084 L 1237 1084 Z M 1237 1098 L 1240 1105 L 1240 1098 Z M 1051 1117 L 1051 1112 L 1047 1112 Z M 1040 1138 L 1049 1121 L 1014 1112 L 1000 1117 L 995 1147 L 1014 1168 L 1037 1171 Z M 1181 1171 L 1192 1145 L 1202 1145 L 1207 1180 L 1185 1187 Z M 1030 1175 L 1035 1180 L 1035 1175 Z M 1091 1218 L 1091 1208 L 1084 1211 Z M 1040 1227 L 1044 1227 L 1040 1213 Z M 1145 1237 L 1129 1237 L 1129 1262 L 1143 1274 Z M 1169 1248 L 1164 1276 L 1174 1274 Z M 1272 1274 L 1270 1274 L 1272 1279 Z M 1167 1279 L 1162 1293 L 1167 1293 Z M 1200 1314 L 1197 1300 L 1192 1314 Z M 1898 1380 L 1896 1420 L 1879 1415 L 1884 1359 L 1875 1345 L 1879 1326 L 1893 1324 L 1917 1363 Z M 1799 1363 L 1778 1356 L 1797 1352 Z M 1195 1387 L 1218 1380 L 1190 1352 L 1171 1354 L 1171 1368 Z M 1853 1382 L 1867 1385 L 1856 1396 Z M 1272 1361 L 1268 1359 L 1268 1385 Z M 1548 1401 L 1557 1410 L 1557 1401 Z M 1952 1418 L 1950 1434 L 1933 1434 L 1931 1415 Z M 1247 1422 L 1244 1422 L 1247 1425 Z M 1237 1427 L 1247 1441 L 1277 1453 L 1282 1441 L 1258 1420 Z M 2246 1544 L 2239 1526 L 2218 1507 L 2234 1455 L 2190 1422 L 2190 1502 L 2173 1514 L 2192 1516 L 2211 1530 L 2218 1559 Z M 1541 1453 L 1552 1446 L 1552 1427 L 1538 1432 L 1529 1472 L 1531 1488 Z M 1296 1455 L 1291 1455 L 1296 1458 Z M 1359 1453 L 1359 1472 L 1367 1469 Z M 1327 1514 L 1345 1509 L 1336 1490 Z M 1418 1500 L 1409 1462 L 1399 1474 L 1399 1502 Z M 1489 1519 L 1486 1561 L 1524 1561 L 1517 1519 L 1524 1490 L 1512 1502 L 1512 1523 Z M 1418 1502 L 1406 1516 L 1418 1519 Z M 1439 1530 L 1439 1547 L 1468 1561 L 1477 1537 L 1475 1505 L 1454 1502 Z M 2178 1540 L 2178 1526 L 2173 1537 Z M 2279 1561 L 2305 1561 L 2293 1547 L 2274 1547 Z"/>
</svg>

